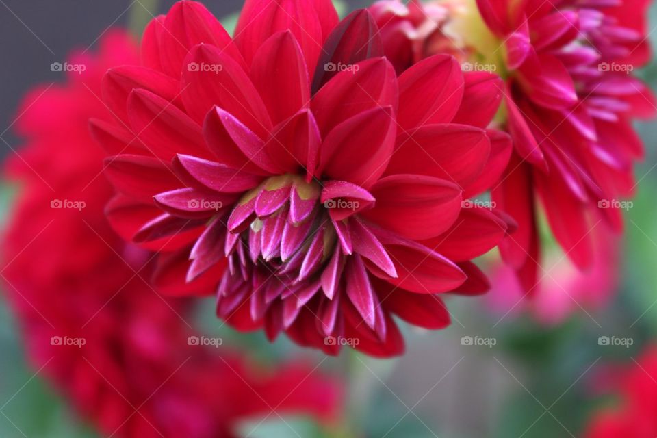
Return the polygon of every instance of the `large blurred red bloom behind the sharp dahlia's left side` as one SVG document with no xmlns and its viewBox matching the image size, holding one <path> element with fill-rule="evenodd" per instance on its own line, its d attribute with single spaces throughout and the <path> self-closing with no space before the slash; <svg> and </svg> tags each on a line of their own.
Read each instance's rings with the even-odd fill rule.
<svg viewBox="0 0 657 438">
<path fill-rule="evenodd" d="M 84 73 L 32 92 L 16 123 L 28 140 L 8 164 L 20 190 L 2 275 L 34 368 L 116 437 L 235 437 L 238 420 L 279 404 L 329 420 L 339 386 L 312 367 L 254 369 L 227 348 L 190 345 L 200 335 L 185 322 L 190 299 L 159 296 L 142 279 L 149 253 L 107 224 L 113 190 L 99 177 L 104 154 L 88 118 L 111 120 L 101 77 L 136 59 L 128 38 L 110 31 L 98 58 L 71 60 Z"/>
</svg>

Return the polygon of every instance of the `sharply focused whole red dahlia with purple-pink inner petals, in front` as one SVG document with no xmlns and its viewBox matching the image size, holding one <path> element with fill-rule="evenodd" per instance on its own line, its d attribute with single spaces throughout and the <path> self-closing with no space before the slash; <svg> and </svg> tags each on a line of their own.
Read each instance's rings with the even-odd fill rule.
<svg viewBox="0 0 657 438">
<path fill-rule="evenodd" d="M 107 73 L 118 122 L 94 131 L 110 222 L 162 252 L 156 285 L 214 285 L 237 329 L 380 356 L 402 352 L 392 314 L 438 329 L 439 294 L 487 289 L 470 259 L 506 224 L 463 201 L 510 153 L 484 129 L 494 77 L 446 55 L 397 76 L 370 14 L 337 23 L 329 0 L 246 1 L 235 40 L 181 1 L 142 51 Z"/>
</svg>

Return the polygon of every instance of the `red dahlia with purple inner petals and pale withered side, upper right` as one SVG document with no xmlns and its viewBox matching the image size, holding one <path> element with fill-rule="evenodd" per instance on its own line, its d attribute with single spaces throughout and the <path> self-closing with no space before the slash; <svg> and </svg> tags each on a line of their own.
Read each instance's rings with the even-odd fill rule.
<svg viewBox="0 0 657 438">
<path fill-rule="evenodd" d="M 439 16 L 415 1 L 408 8 L 391 0 L 370 8 L 396 59 L 448 51 L 464 70 L 505 79 L 504 111 L 496 121 L 511 134 L 514 153 L 493 201 L 518 222 L 500 250 L 526 291 L 540 283 L 539 202 L 580 269 L 594 263 L 592 229 L 604 220 L 621 230 L 623 199 L 636 185 L 632 169 L 643 157 L 632 120 L 655 113 L 652 92 L 632 75 L 649 60 L 648 4 L 447 1 Z M 427 21 L 441 44 L 422 32 Z"/>
</svg>

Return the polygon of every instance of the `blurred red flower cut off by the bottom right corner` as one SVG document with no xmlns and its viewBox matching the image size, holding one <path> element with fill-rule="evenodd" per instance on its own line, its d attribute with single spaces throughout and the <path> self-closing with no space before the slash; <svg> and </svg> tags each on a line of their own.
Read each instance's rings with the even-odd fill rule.
<svg viewBox="0 0 657 438">
<path fill-rule="evenodd" d="M 613 371 L 617 403 L 593 414 L 584 438 L 652 438 L 657 435 L 657 348 Z"/>
</svg>

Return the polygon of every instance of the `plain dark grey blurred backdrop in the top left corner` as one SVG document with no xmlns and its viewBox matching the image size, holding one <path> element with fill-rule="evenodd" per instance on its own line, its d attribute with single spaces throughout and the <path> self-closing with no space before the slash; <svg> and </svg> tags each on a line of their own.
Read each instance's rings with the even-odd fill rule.
<svg viewBox="0 0 657 438">
<path fill-rule="evenodd" d="M 141 3 L 141 4 L 140 4 Z M 62 73 L 50 71 L 52 62 L 63 62 L 71 49 L 86 48 L 112 25 L 129 26 L 131 8 L 148 8 L 153 15 L 166 12 L 175 0 L 0 0 L 0 132 L 16 116 L 16 106 L 37 83 L 58 81 Z M 242 0 L 205 2 L 216 16 L 240 9 Z M 146 11 L 144 10 L 144 14 Z M 12 146 L 16 136 L 9 129 L 3 138 Z M 2 156 L 8 147 L 2 144 Z"/>
</svg>

